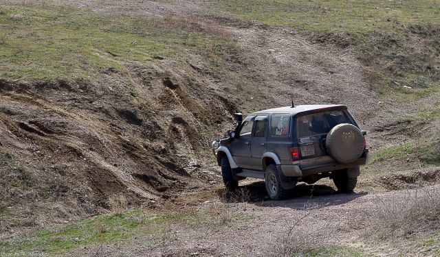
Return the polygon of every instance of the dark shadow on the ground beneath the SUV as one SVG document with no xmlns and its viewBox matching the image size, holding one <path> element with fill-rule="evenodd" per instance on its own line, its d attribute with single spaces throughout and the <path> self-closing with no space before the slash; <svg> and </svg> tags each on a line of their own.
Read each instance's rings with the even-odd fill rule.
<svg viewBox="0 0 440 257">
<path fill-rule="evenodd" d="M 298 183 L 290 192 L 289 197 L 280 201 L 272 201 L 267 196 L 264 182 L 254 182 L 239 186 L 235 191 L 226 188 L 217 190 L 219 199 L 225 203 L 247 202 L 265 207 L 286 207 L 295 210 L 318 209 L 346 204 L 368 192 L 340 193 L 333 187 L 323 184 Z"/>
</svg>

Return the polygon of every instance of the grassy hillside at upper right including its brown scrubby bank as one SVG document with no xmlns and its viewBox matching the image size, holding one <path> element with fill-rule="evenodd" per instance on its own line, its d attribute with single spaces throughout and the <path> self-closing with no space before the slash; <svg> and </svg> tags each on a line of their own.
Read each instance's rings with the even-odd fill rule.
<svg viewBox="0 0 440 257">
<path fill-rule="evenodd" d="M 440 1 L 209 1 L 223 16 L 317 33 L 353 45 L 382 95 L 440 86 Z M 407 88 L 409 86 L 412 89 Z M 420 92 L 419 92 L 420 94 Z M 407 98 L 404 97 L 406 100 Z"/>
</svg>

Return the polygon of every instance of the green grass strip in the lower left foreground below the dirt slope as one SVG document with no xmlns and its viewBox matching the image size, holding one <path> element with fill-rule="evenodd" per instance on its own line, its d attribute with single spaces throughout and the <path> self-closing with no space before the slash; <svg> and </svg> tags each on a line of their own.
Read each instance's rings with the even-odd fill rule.
<svg viewBox="0 0 440 257">
<path fill-rule="evenodd" d="M 218 210 L 217 208 L 215 210 Z M 8 241 L 0 242 L 0 249 L 8 253 L 43 252 L 63 253 L 80 247 L 115 242 L 142 241 L 148 247 L 173 241 L 175 228 L 204 230 L 217 229 L 233 222 L 248 222 L 249 215 L 217 215 L 212 210 L 186 210 L 180 212 L 148 212 L 129 210 L 100 215 L 69 225 L 40 230 Z"/>
</svg>

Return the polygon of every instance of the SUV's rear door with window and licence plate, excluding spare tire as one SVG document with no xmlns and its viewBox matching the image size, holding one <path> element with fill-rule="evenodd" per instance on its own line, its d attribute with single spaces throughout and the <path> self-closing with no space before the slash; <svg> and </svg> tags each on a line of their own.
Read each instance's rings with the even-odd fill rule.
<svg viewBox="0 0 440 257">
<path fill-rule="evenodd" d="M 334 162 L 327 154 L 325 140 L 329 131 L 340 123 L 350 123 L 346 110 L 318 110 L 296 117 L 296 133 L 302 168 Z"/>
</svg>

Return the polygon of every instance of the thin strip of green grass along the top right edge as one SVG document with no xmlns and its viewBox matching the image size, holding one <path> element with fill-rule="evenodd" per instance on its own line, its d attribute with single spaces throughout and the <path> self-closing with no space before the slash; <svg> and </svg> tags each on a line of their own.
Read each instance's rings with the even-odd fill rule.
<svg viewBox="0 0 440 257">
<path fill-rule="evenodd" d="M 396 25 L 440 23 L 439 1 L 208 1 L 225 15 L 316 32 L 371 34 Z"/>
</svg>

